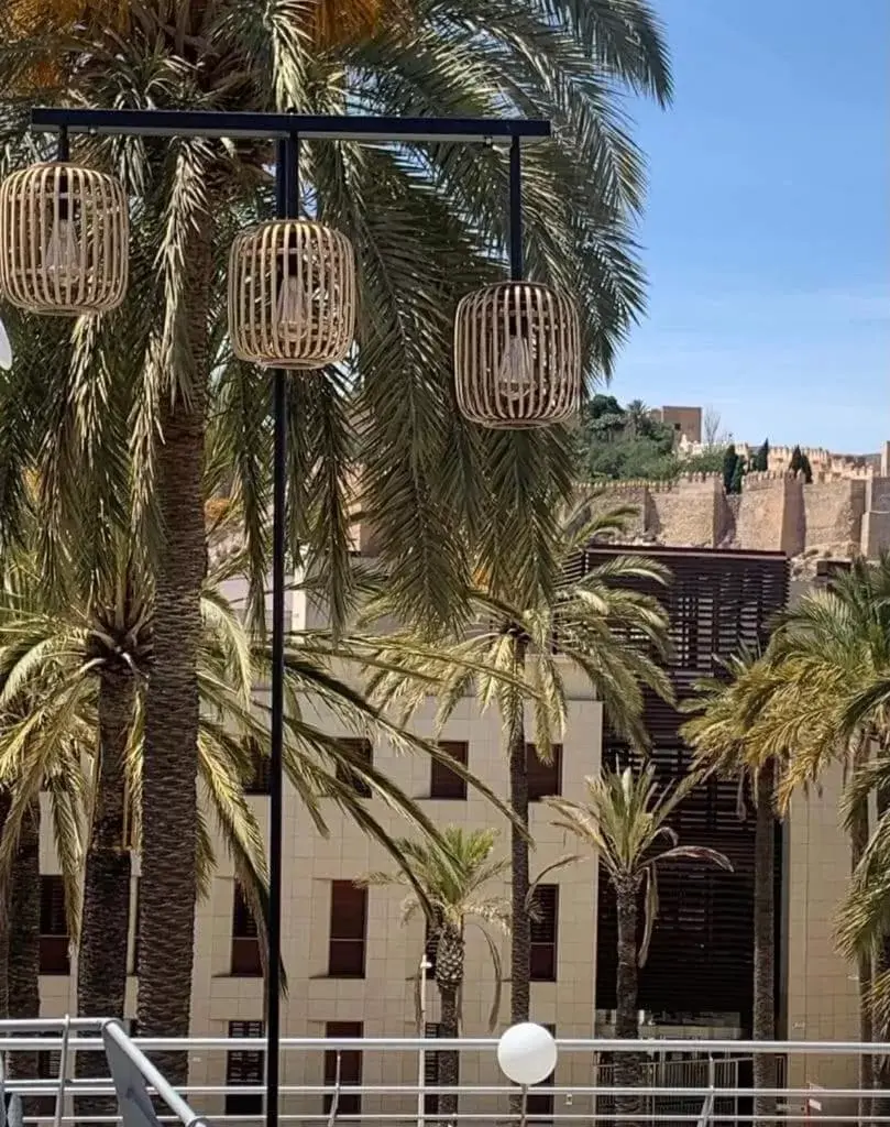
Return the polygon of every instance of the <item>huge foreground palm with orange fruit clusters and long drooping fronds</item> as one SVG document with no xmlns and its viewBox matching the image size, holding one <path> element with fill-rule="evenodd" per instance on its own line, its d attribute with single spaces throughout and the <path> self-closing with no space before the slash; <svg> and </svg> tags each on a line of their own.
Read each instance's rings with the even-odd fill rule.
<svg viewBox="0 0 890 1127">
<path fill-rule="evenodd" d="M 669 97 L 658 21 L 643 0 L 580 7 L 559 0 L 555 8 L 540 0 L 532 8 L 495 9 L 469 0 L 445 9 L 417 0 L 410 7 L 404 18 L 401 5 L 370 0 L 345 7 L 16 0 L 0 17 L 7 20 L 5 117 L 18 135 L 23 109 L 38 97 L 171 108 L 551 117 L 559 126 L 555 140 L 526 162 L 527 265 L 533 275 L 579 294 L 590 371 L 607 370 L 642 299 L 629 223 L 641 203 L 642 162 L 612 87 L 618 82 L 660 101 Z M 212 394 L 237 406 L 230 418 L 238 440 L 234 486 L 248 499 L 257 594 L 266 575 L 268 382 L 232 363 L 220 345 L 216 251 L 246 214 L 268 214 L 268 153 L 195 139 L 163 147 L 87 141 L 82 151 L 88 149 L 115 165 L 133 195 L 145 201 L 135 216 L 132 300 L 101 325 L 75 330 L 74 361 L 48 369 L 51 385 L 47 369 L 38 370 L 28 393 L 3 398 L 35 436 L 32 455 L 42 451 L 44 480 L 56 490 L 56 521 L 60 513 L 78 512 L 84 474 L 113 504 L 107 487 L 127 459 L 143 512 L 157 517 L 139 1020 L 149 1035 L 184 1036 L 197 857 L 201 487 Z M 507 233 L 507 166 L 496 151 L 471 157 L 447 145 L 424 147 L 418 157 L 304 145 L 306 198 L 320 218 L 350 236 L 363 263 L 363 322 L 357 371 L 348 380 L 329 373 L 291 385 L 291 539 L 294 552 L 300 542 L 321 545 L 331 605 L 342 612 L 349 576 L 344 483 L 354 452 L 347 406 L 356 407 L 364 423 L 365 502 L 394 565 L 400 604 L 411 618 L 434 612 L 452 619 L 465 564 L 463 534 L 479 530 L 480 516 L 484 525 L 473 482 L 506 464 L 505 455 L 522 461 L 527 450 L 544 480 L 554 460 L 569 461 L 569 435 L 489 441 L 456 418 L 447 373 L 451 312 L 462 293 L 495 276 L 492 251 L 502 249 Z M 359 389 L 357 405 L 348 401 L 353 388 Z M 32 406 L 36 412 L 29 415 Z M 55 436 L 51 445 L 47 435 Z M 2 454 L 15 463 L 5 467 L 11 480 L 27 458 L 24 447 L 19 438 Z M 561 481 L 570 488 L 566 474 Z M 16 489 L 5 486 L 2 500 L 15 509 Z M 15 524 L 15 512 L 2 520 Z"/>
</svg>

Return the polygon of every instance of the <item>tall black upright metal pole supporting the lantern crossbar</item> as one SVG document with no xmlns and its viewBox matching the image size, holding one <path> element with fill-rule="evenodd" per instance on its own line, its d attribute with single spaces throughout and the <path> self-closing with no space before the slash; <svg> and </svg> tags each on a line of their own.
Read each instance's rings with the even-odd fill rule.
<svg viewBox="0 0 890 1127">
<path fill-rule="evenodd" d="M 278 219 L 296 218 L 299 196 L 295 137 L 279 141 L 275 171 Z M 269 921 L 266 976 L 266 1125 L 278 1125 L 282 1039 L 282 845 L 284 841 L 284 594 L 287 544 L 287 372 L 273 376 L 275 449 L 272 502 L 272 731 L 269 749 Z"/>
</svg>

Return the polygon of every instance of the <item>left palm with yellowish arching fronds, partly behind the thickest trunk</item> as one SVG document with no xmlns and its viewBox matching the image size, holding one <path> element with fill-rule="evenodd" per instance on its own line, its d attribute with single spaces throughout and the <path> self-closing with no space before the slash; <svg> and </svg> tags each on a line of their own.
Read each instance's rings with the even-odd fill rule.
<svg viewBox="0 0 890 1127">
<path fill-rule="evenodd" d="M 69 932 L 79 946 L 79 1012 L 124 1014 L 130 857 L 131 850 L 139 849 L 145 823 L 141 798 L 152 593 L 148 577 L 136 574 L 128 549 L 118 548 L 119 571 L 106 562 L 118 577 L 110 591 L 96 576 L 91 594 L 89 587 L 83 589 L 82 577 L 72 574 L 62 588 L 64 597 L 54 600 L 35 575 L 33 557 L 21 553 L 15 564 L 7 561 L 0 604 L 0 784 L 7 788 L 10 804 L 0 836 L 0 887 L 11 886 L 18 897 L 12 939 L 21 934 L 23 940 L 12 943 L 10 978 L 23 983 L 14 991 L 20 1017 L 37 1015 L 21 1012 L 26 1002 L 18 1000 L 28 983 L 37 982 L 36 923 L 23 930 L 32 921 L 33 898 L 26 904 L 23 897 L 36 894 L 38 882 L 23 879 L 21 873 L 16 877 L 14 867 L 30 857 L 28 843 L 36 841 L 35 811 L 42 790 L 50 792 L 56 852 L 65 877 Z M 235 877 L 260 929 L 265 952 L 266 859 L 244 787 L 267 730 L 268 704 L 255 696 L 255 685 L 268 680 L 269 655 L 264 641 L 250 640 L 220 593 L 221 584 L 241 568 L 239 558 L 230 557 L 204 583 L 197 890 L 208 893 L 216 867 L 214 835 L 206 822 L 210 815 L 234 860 Z M 308 721 L 301 698 L 311 695 L 363 733 L 385 733 L 404 747 L 425 752 L 427 745 L 388 722 L 332 676 L 328 664 L 328 654 L 317 651 L 311 639 L 294 644 L 287 655 L 292 699 L 285 767 L 322 833 L 327 832 L 322 813 L 327 799 L 351 815 L 398 861 L 393 842 L 338 769 L 361 778 L 433 840 L 435 829 L 394 783 L 362 764 L 348 745 Z M 124 692 L 123 678 L 128 681 Z M 114 709 L 122 700 L 124 715 Z M 84 766 L 84 758 L 92 760 L 91 766 Z M 90 1056 L 79 1062 L 82 1075 L 90 1074 L 86 1071 L 90 1063 Z M 100 1062 L 92 1064 L 96 1067 Z M 106 1102 L 83 1100 L 79 1113 L 105 1113 Z"/>
</svg>

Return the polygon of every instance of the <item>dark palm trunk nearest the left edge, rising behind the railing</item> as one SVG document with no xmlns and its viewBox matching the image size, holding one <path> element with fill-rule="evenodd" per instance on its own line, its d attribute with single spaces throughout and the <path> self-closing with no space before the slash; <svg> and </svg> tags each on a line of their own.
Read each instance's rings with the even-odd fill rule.
<svg viewBox="0 0 890 1127">
<path fill-rule="evenodd" d="M 37 802 L 26 814 L 12 864 L 9 890 L 9 1017 L 41 1015 L 41 811 Z M 37 1076 L 37 1053 L 9 1055 L 9 1075 L 23 1080 Z M 25 1100 L 25 1115 L 36 1115 L 33 1100 Z"/>
</svg>

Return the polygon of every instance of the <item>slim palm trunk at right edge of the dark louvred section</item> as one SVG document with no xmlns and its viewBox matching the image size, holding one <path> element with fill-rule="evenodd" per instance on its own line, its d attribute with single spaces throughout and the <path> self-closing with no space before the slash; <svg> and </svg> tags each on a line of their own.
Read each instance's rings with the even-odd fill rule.
<svg viewBox="0 0 890 1127">
<path fill-rule="evenodd" d="M 754 1039 L 775 1039 L 775 818 L 773 764 L 757 775 L 757 822 L 754 842 Z M 776 1057 L 754 1057 L 755 1092 L 776 1086 Z M 762 1127 L 775 1118 L 774 1095 L 755 1095 L 755 1120 Z"/>
</svg>

